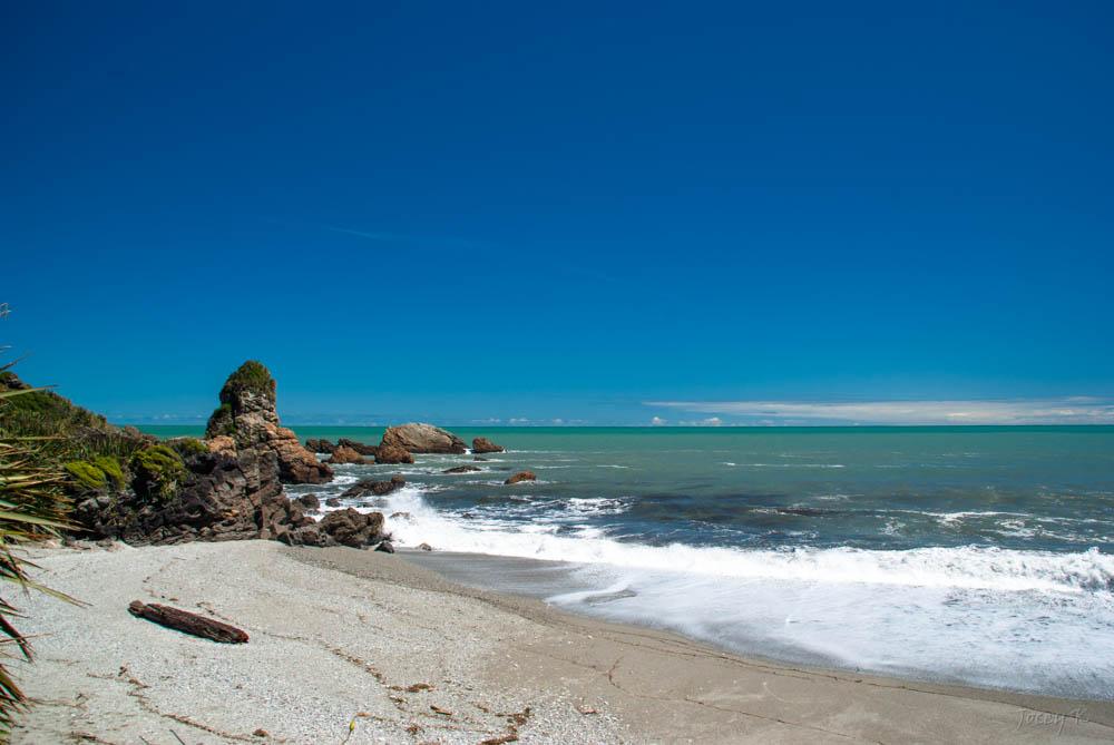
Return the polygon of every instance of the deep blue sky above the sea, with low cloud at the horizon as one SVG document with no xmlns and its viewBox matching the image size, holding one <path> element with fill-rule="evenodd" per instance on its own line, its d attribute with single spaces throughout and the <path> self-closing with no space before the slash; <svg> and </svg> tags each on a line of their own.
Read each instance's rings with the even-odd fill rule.
<svg viewBox="0 0 1114 745">
<path fill-rule="evenodd" d="M 6 3 L 9 356 L 118 421 L 248 357 L 300 422 L 1114 421 L 1114 6 L 541 6 Z"/>
</svg>

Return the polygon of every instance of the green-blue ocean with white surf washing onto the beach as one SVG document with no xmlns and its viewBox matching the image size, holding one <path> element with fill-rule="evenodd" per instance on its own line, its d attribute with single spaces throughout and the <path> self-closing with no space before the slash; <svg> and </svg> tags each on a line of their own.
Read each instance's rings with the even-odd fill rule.
<svg viewBox="0 0 1114 745">
<path fill-rule="evenodd" d="M 359 506 L 407 513 L 388 520 L 397 543 L 437 549 L 413 560 L 569 611 L 797 664 L 1114 698 L 1114 428 L 452 429 L 508 452 L 287 491 L 402 473 Z M 441 472 L 463 464 L 481 470 Z M 504 486 L 519 470 L 538 480 Z"/>
</svg>

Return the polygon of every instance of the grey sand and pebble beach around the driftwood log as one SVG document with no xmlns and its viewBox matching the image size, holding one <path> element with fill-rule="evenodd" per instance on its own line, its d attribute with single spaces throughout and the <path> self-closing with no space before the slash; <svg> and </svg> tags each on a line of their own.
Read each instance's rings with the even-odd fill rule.
<svg viewBox="0 0 1114 745">
<path fill-rule="evenodd" d="M 1110 742 L 1114 704 L 799 669 L 272 541 L 47 549 L 16 743 Z M 219 645 L 131 600 L 226 620 Z M 354 724 L 353 724 L 354 723 Z M 354 726 L 354 729 L 352 728 Z M 350 732 L 351 729 L 351 732 Z"/>
</svg>

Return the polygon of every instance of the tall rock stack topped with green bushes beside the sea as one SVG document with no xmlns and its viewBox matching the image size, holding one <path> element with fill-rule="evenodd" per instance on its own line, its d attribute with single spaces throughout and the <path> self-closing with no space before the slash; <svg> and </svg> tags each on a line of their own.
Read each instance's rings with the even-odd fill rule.
<svg viewBox="0 0 1114 745">
<path fill-rule="evenodd" d="M 286 483 L 324 483 L 333 471 L 297 437 L 278 422 L 275 411 L 275 381 L 262 363 L 251 360 L 228 375 L 221 389 L 221 405 L 209 416 L 205 437 L 229 437 L 236 451 L 267 449 L 278 462 L 280 479 Z"/>
</svg>

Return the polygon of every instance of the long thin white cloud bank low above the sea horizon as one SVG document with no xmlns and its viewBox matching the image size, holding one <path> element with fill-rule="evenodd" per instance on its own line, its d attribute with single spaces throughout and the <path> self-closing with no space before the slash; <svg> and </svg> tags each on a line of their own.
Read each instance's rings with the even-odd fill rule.
<svg viewBox="0 0 1114 745">
<path fill-rule="evenodd" d="M 644 405 L 732 416 L 745 420 L 744 423 L 1114 424 L 1114 402 L 1084 396 L 967 401 L 646 401 Z"/>
</svg>

